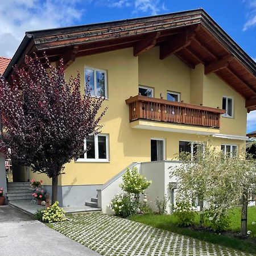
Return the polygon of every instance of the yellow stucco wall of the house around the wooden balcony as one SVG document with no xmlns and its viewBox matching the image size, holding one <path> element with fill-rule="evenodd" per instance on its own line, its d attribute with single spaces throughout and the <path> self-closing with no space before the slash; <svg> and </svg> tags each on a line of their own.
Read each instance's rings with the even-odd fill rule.
<svg viewBox="0 0 256 256">
<path fill-rule="evenodd" d="M 173 133 L 167 131 L 133 129 L 129 123 L 129 107 L 125 100 L 138 94 L 138 85 L 154 88 L 156 98 L 166 91 L 181 93 L 181 100 L 187 103 L 220 106 L 222 94 L 233 96 L 235 100 L 235 118 L 222 118 L 221 133 L 245 135 L 246 110 L 244 100 L 218 77 L 211 74 L 204 76 L 202 66 L 191 70 L 175 55 L 164 60 L 159 59 L 159 48 L 155 47 L 133 56 L 133 48 L 122 49 L 93 56 L 77 57 L 66 70 L 66 77 L 76 76 L 79 70 L 81 84 L 84 85 L 84 66 L 103 69 L 108 73 L 108 98 L 104 106 L 108 112 L 102 119 L 102 133 L 109 134 L 110 162 L 89 163 L 71 162 L 65 166 L 65 175 L 59 179 L 61 185 L 104 184 L 131 162 L 150 161 L 150 139 L 162 138 L 166 142 L 166 159 L 171 160 L 179 150 L 179 141 L 203 141 L 195 134 Z M 203 84 L 202 84 L 203 83 Z M 81 86 L 82 87 L 82 86 Z M 191 88 L 193 91 L 191 91 Z M 195 92 L 199 90 L 199 92 Z M 202 102 L 201 102 L 202 101 Z M 236 105 L 237 104 L 237 105 Z M 230 139 L 213 138 L 212 143 L 237 144 L 244 142 Z M 51 184 L 46 177 L 31 174 L 36 179 L 42 178 L 44 184 Z"/>
</svg>

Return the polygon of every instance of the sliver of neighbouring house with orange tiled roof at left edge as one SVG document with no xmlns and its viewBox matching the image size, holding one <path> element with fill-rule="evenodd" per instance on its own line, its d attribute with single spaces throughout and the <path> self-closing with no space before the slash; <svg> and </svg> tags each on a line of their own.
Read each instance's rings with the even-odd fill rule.
<svg viewBox="0 0 256 256">
<path fill-rule="evenodd" d="M 0 75 L 5 72 L 7 65 L 10 63 L 11 59 L 0 56 Z M 0 117 L 0 137 L 2 137 L 2 123 Z M 7 190 L 6 184 L 6 170 L 5 170 L 5 158 L 3 153 L 0 151 L 0 187 L 3 187 L 4 191 Z"/>
</svg>

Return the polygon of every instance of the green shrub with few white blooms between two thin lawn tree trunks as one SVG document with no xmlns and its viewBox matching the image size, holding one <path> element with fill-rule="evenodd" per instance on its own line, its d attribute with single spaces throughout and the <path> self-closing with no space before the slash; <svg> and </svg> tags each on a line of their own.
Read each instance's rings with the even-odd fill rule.
<svg viewBox="0 0 256 256">
<path fill-rule="evenodd" d="M 215 232 L 226 230 L 230 226 L 228 210 L 223 208 L 207 209 L 204 216 L 206 217 L 205 222 L 207 222 L 207 225 Z"/>
</svg>

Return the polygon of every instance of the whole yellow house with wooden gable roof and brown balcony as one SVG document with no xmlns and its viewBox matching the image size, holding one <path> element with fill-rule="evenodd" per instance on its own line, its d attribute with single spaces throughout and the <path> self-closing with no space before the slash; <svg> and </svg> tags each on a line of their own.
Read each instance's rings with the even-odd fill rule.
<svg viewBox="0 0 256 256">
<path fill-rule="evenodd" d="M 85 142 L 90 150 L 59 178 L 62 205 L 84 204 L 98 189 L 106 212 L 127 166 L 152 179 L 152 201 L 173 197 L 168 167 L 180 164 L 172 161 L 180 150 L 193 154 L 204 135 L 225 152 L 245 148 L 256 63 L 202 9 L 26 32 L 5 77 L 26 54 L 44 61 L 44 51 L 52 63 L 63 58 L 67 77 L 92 77 L 92 96 L 109 108 L 102 133 Z M 51 191 L 47 177 L 30 177 Z"/>
</svg>

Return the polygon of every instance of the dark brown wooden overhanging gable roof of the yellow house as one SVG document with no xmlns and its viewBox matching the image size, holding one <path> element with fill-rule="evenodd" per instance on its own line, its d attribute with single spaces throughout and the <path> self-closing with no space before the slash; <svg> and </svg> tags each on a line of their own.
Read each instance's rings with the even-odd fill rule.
<svg viewBox="0 0 256 256">
<path fill-rule="evenodd" d="M 33 52 L 51 62 L 64 60 L 67 68 L 76 57 L 133 47 L 134 56 L 159 46 L 160 59 L 175 54 L 189 67 L 205 65 L 246 99 L 248 112 L 256 109 L 256 63 L 203 10 L 145 18 L 26 32 L 7 67 L 22 67 Z"/>
</svg>

